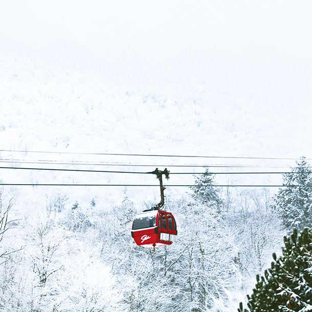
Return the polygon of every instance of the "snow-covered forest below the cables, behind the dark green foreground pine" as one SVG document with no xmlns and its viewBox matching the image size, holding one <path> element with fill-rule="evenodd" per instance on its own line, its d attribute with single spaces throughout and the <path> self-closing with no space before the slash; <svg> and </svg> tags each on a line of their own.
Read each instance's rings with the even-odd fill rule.
<svg viewBox="0 0 312 312">
<path fill-rule="evenodd" d="M 65 193 L 55 193 L 36 214 L 16 218 L 16 198 L 3 187 L 1 309 L 236 310 L 272 253 L 281 253 L 283 236 L 311 226 L 312 190 L 304 185 L 312 171 L 302 158 L 274 196 L 265 188 L 214 187 L 208 168 L 195 180 L 186 195 L 166 202 L 179 240 L 155 251 L 132 240 L 138 210 L 131 200 L 105 209 L 96 198 L 68 205 Z"/>
</svg>

